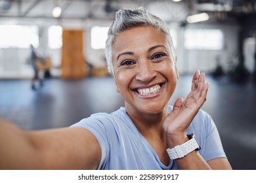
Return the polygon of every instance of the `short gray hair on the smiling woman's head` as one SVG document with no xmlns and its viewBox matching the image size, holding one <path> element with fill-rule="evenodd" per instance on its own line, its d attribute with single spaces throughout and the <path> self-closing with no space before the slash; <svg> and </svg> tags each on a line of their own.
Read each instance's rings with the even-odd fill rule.
<svg viewBox="0 0 256 183">
<path fill-rule="evenodd" d="M 171 60 L 176 62 L 175 49 L 173 48 L 173 41 L 167 25 L 161 20 L 158 16 L 150 14 L 145 8 L 139 7 L 133 10 L 121 9 L 116 12 L 116 20 L 110 26 L 108 30 L 108 39 L 106 40 L 106 61 L 108 65 L 108 72 L 114 75 L 112 53 L 113 45 L 116 39 L 116 36 L 131 27 L 139 26 L 151 26 L 156 27 L 160 30 L 167 39 L 167 49 L 169 49 L 169 54 Z"/>
</svg>

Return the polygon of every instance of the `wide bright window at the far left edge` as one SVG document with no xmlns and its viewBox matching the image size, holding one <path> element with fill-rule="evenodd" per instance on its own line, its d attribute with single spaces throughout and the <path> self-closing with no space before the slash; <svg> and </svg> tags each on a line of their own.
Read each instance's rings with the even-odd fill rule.
<svg viewBox="0 0 256 183">
<path fill-rule="evenodd" d="M 0 25 L 0 48 L 35 48 L 39 46 L 35 25 Z"/>
</svg>

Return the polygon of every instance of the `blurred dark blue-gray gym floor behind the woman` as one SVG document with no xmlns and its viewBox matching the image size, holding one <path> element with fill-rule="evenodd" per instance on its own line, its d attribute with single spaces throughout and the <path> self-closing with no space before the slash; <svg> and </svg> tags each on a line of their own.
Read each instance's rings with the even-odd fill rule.
<svg viewBox="0 0 256 183">
<path fill-rule="evenodd" d="M 169 101 L 185 98 L 191 75 L 181 75 Z M 215 121 L 233 169 L 256 169 L 256 84 L 207 76 L 209 92 L 203 105 Z M 112 112 L 124 105 L 114 80 L 46 79 L 34 91 L 30 80 L 0 80 L 0 117 L 23 129 L 66 127 L 95 112 Z"/>
</svg>

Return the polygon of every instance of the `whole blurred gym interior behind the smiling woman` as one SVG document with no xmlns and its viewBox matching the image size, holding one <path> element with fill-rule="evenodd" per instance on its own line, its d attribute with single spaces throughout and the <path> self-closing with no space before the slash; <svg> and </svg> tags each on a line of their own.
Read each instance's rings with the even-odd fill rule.
<svg viewBox="0 0 256 183">
<path fill-rule="evenodd" d="M 116 10 L 135 7 L 169 26 L 180 74 L 169 103 L 206 73 L 203 110 L 232 167 L 256 169 L 255 0 L 0 0 L 0 117 L 48 129 L 123 106 L 104 43 Z"/>
</svg>

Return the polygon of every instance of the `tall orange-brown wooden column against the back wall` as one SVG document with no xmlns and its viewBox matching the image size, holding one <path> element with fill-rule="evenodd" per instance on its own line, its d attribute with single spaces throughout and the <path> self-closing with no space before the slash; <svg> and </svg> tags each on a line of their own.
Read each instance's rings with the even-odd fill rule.
<svg viewBox="0 0 256 183">
<path fill-rule="evenodd" d="M 63 30 L 62 32 L 62 78 L 83 78 L 86 76 L 83 58 L 83 31 Z"/>
</svg>

